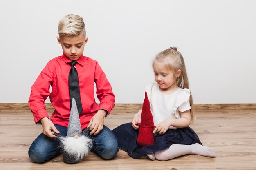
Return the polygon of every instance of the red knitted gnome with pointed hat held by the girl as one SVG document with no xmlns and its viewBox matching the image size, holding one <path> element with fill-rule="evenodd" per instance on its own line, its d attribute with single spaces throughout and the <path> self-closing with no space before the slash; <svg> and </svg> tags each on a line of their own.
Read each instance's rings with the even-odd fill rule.
<svg viewBox="0 0 256 170">
<path fill-rule="evenodd" d="M 138 126 L 140 126 L 140 128 L 137 144 L 141 147 L 154 144 L 153 130 L 155 126 L 153 116 L 150 111 L 147 92 L 145 92 L 145 99 L 142 105 L 141 122 L 138 124 Z"/>
</svg>

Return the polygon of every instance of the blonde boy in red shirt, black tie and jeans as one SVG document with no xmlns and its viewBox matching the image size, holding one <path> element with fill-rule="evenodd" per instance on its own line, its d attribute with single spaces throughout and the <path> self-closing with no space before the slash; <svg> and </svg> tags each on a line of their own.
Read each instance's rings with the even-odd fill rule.
<svg viewBox="0 0 256 170">
<path fill-rule="evenodd" d="M 52 131 L 67 135 L 70 101 L 75 98 L 82 130 L 90 127 L 94 141 L 91 151 L 104 159 L 111 159 L 119 149 L 115 136 L 104 125 L 104 117 L 114 107 L 115 96 L 98 62 L 83 56 L 88 41 L 83 18 L 66 15 L 59 22 L 58 34 L 63 55 L 50 60 L 31 87 L 29 107 L 35 123 L 42 124 L 43 133 L 31 144 L 29 157 L 36 163 L 43 163 L 60 153 L 60 141 Z M 99 106 L 94 100 L 94 82 Z M 45 108 L 48 96 L 55 109 L 51 119 Z"/>
</svg>

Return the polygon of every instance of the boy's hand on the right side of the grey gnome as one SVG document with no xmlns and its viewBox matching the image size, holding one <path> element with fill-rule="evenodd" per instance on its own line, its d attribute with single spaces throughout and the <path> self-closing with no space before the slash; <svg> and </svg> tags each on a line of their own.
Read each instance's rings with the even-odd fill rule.
<svg viewBox="0 0 256 170">
<path fill-rule="evenodd" d="M 92 117 L 87 127 L 90 127 L 90 135 L 97 135 L 102 129 L 104 125 L 104 117 L 106 116 L 106 110 L 98 110 L 98 112 Z"/>
</svg>

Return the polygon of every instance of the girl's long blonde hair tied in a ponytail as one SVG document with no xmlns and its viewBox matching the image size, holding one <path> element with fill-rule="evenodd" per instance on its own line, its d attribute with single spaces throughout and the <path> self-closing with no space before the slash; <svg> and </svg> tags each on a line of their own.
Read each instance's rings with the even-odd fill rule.
<svg viewBox="0 0 256 170">
<path fill-rule="evenodd" d="M 184 58 L 179 51 L 177 51 L 177 47 L 171 47 L 164 51 L 161 51 L 159 54 L 155 56 L 153 60 L 152 66 L 157 64 L 158 66 L 162 66 L 169 71 L 172 71 L 175 75 L 178 70 L 181 70 L 181 74 L 176 78 L 176 84 L 181 89 L 188 88 L 189 89 L 189 80 L 186 73 L 186 66 L 184 62 Z M 193 99 L 190 93 L 190 115 L 191 115 L 191 124 L 195 122 L 195 115 L 193 111 Z"/>
</svg>

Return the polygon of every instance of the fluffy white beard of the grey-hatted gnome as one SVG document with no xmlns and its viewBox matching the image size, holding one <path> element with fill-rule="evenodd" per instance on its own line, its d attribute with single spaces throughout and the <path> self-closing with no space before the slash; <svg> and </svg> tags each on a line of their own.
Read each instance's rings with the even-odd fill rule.
<svg viewBox="0 0 256 170">
<path fill-rule="evenodd" d="M 74 156 L 75 161 L 80 162 L 88 155 L 92 148 L 92 139 L 82 135 L 77 139 L 74 137 L 60 137 L 62 151 Z"/>
</svg>

